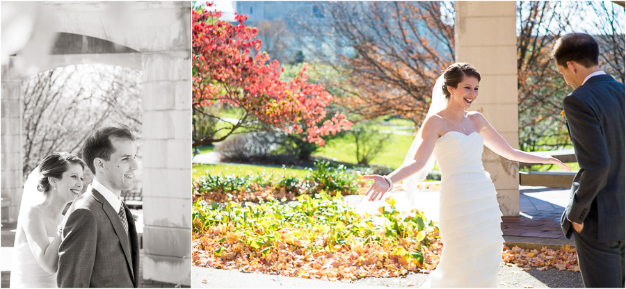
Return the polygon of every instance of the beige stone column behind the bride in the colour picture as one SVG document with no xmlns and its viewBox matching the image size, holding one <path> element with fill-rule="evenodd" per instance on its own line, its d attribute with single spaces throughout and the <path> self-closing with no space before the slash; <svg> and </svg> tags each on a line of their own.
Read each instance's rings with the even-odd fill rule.
<svg viewBox="0 0 626 289">
<path fill-rule="evenodd" d="M 458 1 L 455 10 L 456 61 L 471 63 L 481 72 L 479 97 L 470 110 L 481 112 L 511 147 L 518 148 L 515 2 Z M 517 162 L 485 147 L 483 165 L 495 184 L 502 213 L 519 215 Z"/>
</svg>

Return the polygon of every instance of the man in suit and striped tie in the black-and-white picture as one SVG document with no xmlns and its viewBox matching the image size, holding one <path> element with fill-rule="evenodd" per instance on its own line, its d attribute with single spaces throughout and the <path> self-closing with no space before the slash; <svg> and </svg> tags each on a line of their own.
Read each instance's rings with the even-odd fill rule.
<svg viewBox="0 0 626 289">
<path fill-rule="evenodd" d="M 120 199 L 133 187 L 137 147 L 125 127 L 94 131 L 82 155 L 90 188 L 70 210 L 58 248 L 59 287 L 138 287 L 139 246 L 133 215 Z"/>
</svg>

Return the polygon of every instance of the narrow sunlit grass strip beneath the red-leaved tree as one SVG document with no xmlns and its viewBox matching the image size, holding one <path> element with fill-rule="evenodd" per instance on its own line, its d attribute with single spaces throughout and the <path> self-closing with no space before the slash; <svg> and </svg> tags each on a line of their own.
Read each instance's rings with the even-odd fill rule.
<svg viewBox="0 0 626 289">
<path fill-rule="evenodd" d="M 207 174 L 234 174 L 236 176 L 245 176 L 246 174 L 273 174 L 274 179 L 280 179 L 286 173 L 287 176 L 306 176 L 308 170 L 282 167 L 269 167 L 264 165 L 242 165 L 242 164 L 220 164 L 220 165 L 204 165 L 194 163 L 191 167 L 193 179 L 199 179 L 200 176 Z"/>
</svg>

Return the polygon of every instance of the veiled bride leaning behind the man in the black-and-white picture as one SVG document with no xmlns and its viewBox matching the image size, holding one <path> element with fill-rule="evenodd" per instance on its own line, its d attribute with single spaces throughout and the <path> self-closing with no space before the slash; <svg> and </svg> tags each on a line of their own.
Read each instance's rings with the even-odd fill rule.
<svg viewBox="0 0 626 289">
<path fill-rule="evenodd" d="M 56 287 L 63 209 L 83 188 L 83 160 L 66 152 L 46 156 L 24 183 L 17 217 L 11 288 Z"/>
</svg>

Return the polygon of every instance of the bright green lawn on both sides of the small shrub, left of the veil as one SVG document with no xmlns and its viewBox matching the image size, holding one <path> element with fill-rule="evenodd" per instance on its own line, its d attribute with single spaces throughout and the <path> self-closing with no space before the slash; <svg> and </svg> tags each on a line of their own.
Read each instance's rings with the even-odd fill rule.
<svg viewBox="0 0 626 289">
<path fill-rule="evenodd" d="M 371 165 L 386 165 L 387 167 L 399 167 L 411 146 L 413 137 L 411 135 L 392 135 L 385 145 L 383 151 L 371 160 Z M 315 155 L 325 156 L 327 158 L 335 158 L 336 160 L 346 163 L 357 163 L 356 145 L 352 135 L 346 135 L 344 138 L 338 138 L 328 142 Z"/>
</svg>

